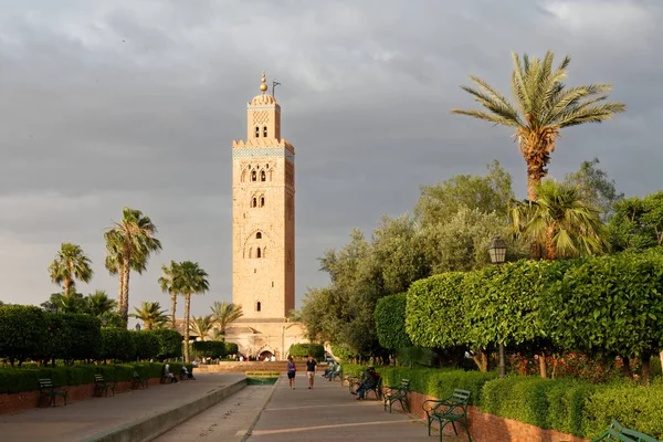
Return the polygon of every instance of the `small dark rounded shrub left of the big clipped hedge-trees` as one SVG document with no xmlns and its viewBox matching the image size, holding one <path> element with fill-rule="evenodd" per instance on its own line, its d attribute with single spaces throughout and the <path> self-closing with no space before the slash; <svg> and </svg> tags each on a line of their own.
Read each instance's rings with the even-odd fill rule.
<svg viewBox="0 0 663 442">
<path fill-rule="evenodd" d="M 406 332 L 408 295 L 399 293 L 385 296 L 376 304 L 376 333 L 380 345 L 390 350 L 408 348 L 412 341 Z"/>
</svg>

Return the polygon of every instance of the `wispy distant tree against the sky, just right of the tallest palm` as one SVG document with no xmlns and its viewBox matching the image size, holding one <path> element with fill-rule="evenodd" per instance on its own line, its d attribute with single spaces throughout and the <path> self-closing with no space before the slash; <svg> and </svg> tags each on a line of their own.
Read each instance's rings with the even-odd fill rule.
<svg viewBox="0 0 663 442">
<path fill-rule="evenodd" d="M 601 218 L 606 220 L 624 194 L 618 192 L 614 180 L 609 179 L 608 173 L 597 167 L 599 162 L 596 157 L 591 161 L 582 161 L 577 172 L 566 176 L 565 182 L 578 187 L 580 199 L 599 209 Z"/>
</svg>

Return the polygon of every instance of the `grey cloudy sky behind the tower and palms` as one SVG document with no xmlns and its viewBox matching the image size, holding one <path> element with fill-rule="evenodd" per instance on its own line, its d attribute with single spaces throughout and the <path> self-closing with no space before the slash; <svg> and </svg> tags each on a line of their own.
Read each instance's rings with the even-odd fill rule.
<svg viewBox="0 0 663 442">
<path fill-rule="evenodd" d="M 317 257 L 413 207 L 420 185 L 483 173 L 493 158 L 525 196 L 509 131 L 466 117 L 474 74 L 508 92 L 511 51 L 572 56 L 569 83 L 614 85 L 627 114 L 562 134 L 550 173 L 598 156 L 628 196 L 661 188 L 663 39 L 659 0 L 0 0 L 0 299 L 56 292 L 61 242 L 95 277 L 122 208 L 159 228 L 164 251 L 133 276 L 130 302 L 168 299 L 169 260 L 198 261 L 231 297 L 231 143 L 262 71 L 282 86 L 296 147 L 297 303 L 327 283 Z M 659 31 L 656 31 L 659 29 Z"/>
</svg>

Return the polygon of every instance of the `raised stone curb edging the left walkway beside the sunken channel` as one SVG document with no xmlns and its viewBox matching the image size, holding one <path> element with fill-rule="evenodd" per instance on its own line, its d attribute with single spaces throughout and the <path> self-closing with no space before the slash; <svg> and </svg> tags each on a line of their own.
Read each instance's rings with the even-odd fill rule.
<svg viewBox="0 0 663 442">
<path fill-rule="evenodd" d="M 196 414 L 219 403 L 223 399 L 246 387 L 246 379 L 239 380 L 206 396 L 182 403 L 181 406 L 161 413 L 144 418 L 113 430 L 104 431 L 81 442 L 148 442 L 179 425 Z"/>
</svg>

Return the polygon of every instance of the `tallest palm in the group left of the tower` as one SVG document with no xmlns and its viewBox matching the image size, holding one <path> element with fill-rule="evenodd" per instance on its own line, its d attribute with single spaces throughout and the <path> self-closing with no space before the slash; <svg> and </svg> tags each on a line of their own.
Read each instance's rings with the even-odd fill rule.
<svg viewBox="0 0 663 442">
<path fill-rule="evenodd" d="M 119 274 L 117 296 L 119 314 L 126 323 L 129 309 L 129 273 L 141 274 L 151 252 L 161 250 L 155 238 L 157 227 L 140 210 L 124 208 L 123 218 L 104 233 L 106 240 L 106 269 Z"/>
</svg>

